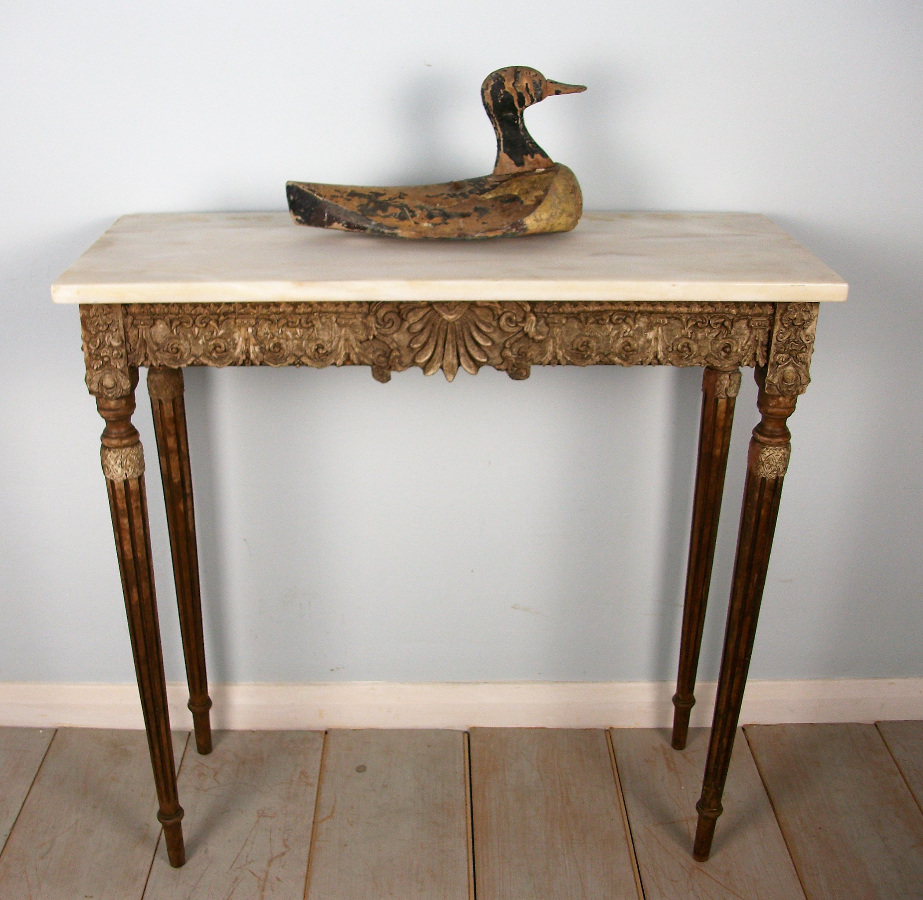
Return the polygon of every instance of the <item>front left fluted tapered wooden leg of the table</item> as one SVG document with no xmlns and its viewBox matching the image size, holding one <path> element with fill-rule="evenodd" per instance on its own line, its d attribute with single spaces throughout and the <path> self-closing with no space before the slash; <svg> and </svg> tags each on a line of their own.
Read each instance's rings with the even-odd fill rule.
<svg viewBox="0 0 923 900">
<path fill-rule="evenodd" d="M 160 626 L 154 595 L 154 569 L 148 530 L 147 496 L 144 488 L 144 455 L 138 432 L 131 424 L 135 410 L 134 388 L 138 370 L 130 370 L 131 387 L 122 397 L 96 398 L 99 414 L 106 420 L 102 435 L 102 465 L 109 491 L 112 529 L 119 557 L 128 631 L 141 694 L 144 727 L 147 729 L 151 765 L 170 865 L 185 862 L 183 808 L 176 790 L 176 766 L 170 737 L 167 686 L 160 648 Z"/>
</svg>

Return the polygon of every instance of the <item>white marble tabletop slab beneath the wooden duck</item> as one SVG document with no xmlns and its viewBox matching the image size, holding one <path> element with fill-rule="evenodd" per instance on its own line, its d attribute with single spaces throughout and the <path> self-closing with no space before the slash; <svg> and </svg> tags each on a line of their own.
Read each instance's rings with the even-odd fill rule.
<svg viewBox="0 0 923 900">
<path fill-rule="evenodd" d="M 764 216 L 587 213 L 567 234 L 407 241 L 287 213 L 119 219 L 56 303 L 344 300 L 845 300 L 847 285 Z"/>
</svg>

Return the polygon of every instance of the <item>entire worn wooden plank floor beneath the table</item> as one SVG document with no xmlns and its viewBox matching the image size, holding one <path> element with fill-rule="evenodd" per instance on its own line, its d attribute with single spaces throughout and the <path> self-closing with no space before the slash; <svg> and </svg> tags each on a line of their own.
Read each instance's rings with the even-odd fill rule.
<svg viewBox="0 0 923 900">
<path fill-rule="evenodd" d="M 706 743 L 234 732 L 200 757 L 177 735 L 177 870 L 142 733 L 0 728 L 0 898 L 923 898 L 923 723 L 746 728 L 696 863 Z"/>
</svg>

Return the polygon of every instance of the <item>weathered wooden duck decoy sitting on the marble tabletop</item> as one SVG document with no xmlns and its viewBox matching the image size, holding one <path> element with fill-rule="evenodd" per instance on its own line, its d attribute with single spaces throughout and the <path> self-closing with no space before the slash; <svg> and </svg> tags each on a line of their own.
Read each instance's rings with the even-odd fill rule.
<svg viewBox="0 0 923 900">
<path fill-rule="evenodd" d="M 413 187 L 290 181 L 288 206 L 301 225 L 401 238 L 488 238 L 570 231 L 580 219 L 580 185 L 533 140 L 523 113 L 583 85 L 549 81 L 525 66 L 492 72 L 481 85 L 497 134 L 494 171 L 481 178 Z"/>
</svg>

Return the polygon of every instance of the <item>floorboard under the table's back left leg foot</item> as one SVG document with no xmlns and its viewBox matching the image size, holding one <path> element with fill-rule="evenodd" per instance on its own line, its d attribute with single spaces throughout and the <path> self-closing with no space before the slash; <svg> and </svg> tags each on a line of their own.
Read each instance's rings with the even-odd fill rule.
<svg viewBox="0 0 923 900">
<path fill-rule="evenodd" d="M 324 734 L 217 732 L 179 774 L 186 865 L 162 854 L 144 900 L 302 900 Z"/>
</svg>

